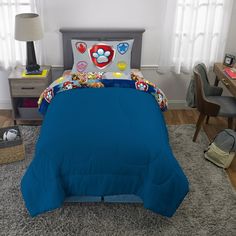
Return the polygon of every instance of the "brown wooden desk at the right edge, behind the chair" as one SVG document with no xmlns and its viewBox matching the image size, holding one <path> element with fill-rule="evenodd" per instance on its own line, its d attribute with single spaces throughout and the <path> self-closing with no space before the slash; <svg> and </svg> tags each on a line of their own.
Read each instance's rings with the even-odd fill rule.
<svg viewBox="0 0 236 236">
<path fill-rule="evenodd" d="M 216 74 L 215 86 L 218 85 L 219 81 L 221 81 L 224 86 L 232 93 L 234 97 L 236 97 L 236 79 L 231 79 L 224 73 L 224 66 L 222 63 L 215 63 L 213 71 Z"/>
</svg>

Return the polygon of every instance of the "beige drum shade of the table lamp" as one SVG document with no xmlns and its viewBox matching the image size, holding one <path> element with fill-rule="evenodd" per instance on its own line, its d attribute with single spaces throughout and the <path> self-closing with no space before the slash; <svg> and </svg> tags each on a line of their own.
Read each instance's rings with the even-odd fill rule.
<svg viewBox="0 0 236 236">
<path fill-rule="evenodd" d="M 35 41 L 43 37 L 40 16 L 35 13 L 16 15 L 15 39 L 19 41 Z"/>
</svg>

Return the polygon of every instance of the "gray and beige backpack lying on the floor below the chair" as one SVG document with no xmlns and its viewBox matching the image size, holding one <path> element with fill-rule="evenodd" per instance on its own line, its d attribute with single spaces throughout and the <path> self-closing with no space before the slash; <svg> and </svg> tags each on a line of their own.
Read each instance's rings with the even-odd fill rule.
<svg viewBox="0 0 236 236">
<path fill-rule="evenodd" d="M 209 144 L 204 156 L 215 165 L 228 168 L 234 159 L 236 152 L 236 132 L 224 129 L 219 132 Z"/>
</svg>

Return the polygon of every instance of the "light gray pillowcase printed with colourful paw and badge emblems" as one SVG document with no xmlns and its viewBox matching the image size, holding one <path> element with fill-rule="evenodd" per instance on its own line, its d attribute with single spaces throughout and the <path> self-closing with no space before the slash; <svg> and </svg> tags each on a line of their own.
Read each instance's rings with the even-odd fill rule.
<svg viewBox="0 0 236 236">
<path fill-rule="evenodd" d="M 85 41 L 72 39 L 76 72 L 123 72 L 130 73 L 131 51 L 134 40 Z"/>
</svg>

